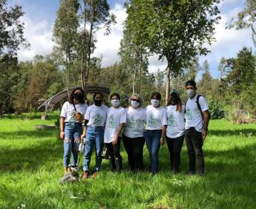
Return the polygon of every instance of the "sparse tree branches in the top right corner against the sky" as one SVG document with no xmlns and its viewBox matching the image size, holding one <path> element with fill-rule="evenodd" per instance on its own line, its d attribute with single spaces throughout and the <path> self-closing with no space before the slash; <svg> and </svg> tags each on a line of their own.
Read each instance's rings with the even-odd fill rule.
<svg viewBox="0 0 256 209">
<path fill-rule="evenodd" d="M 227 29 L 236 30 L 240 29 L 252 29 L 252 41 L 256 47 L 256 30 L 255 30 L 255 21 L 256 21 L 256 1 L 255 0 L 246 0 L 245 9 L 238 12 L 236 18 L 232 18 L 230 24 L 227 25 Z"/>
</svg>

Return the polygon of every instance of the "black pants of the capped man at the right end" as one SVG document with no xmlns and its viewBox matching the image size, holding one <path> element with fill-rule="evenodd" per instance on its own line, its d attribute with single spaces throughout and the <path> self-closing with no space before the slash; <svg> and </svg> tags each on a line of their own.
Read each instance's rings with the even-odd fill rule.
<svg viewBox="0 0 256 209">
<path fill-rule="evenodd" d="M 189 170 L 195 171 L 195 158 L 197 157 L 198 172 L 205 172 L 205 159 L 202 153 L 202 133 L 194 127 L 185 131 L 187 153 L 189 155 Z"/>
</svg>

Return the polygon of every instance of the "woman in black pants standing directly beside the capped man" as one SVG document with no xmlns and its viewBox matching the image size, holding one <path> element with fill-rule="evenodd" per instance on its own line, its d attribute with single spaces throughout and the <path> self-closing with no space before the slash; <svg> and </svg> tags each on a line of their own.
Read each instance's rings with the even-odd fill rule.
<svg viewBox="0 0 256 209">
<path fill-rule="evenodd" d="M 179 171 L 180 152 L 184 142 L 184 106 L 179 93 L 172 91 L 167 103 L 167 146 L 171 160 L 172 173 Z"/>
</svg>

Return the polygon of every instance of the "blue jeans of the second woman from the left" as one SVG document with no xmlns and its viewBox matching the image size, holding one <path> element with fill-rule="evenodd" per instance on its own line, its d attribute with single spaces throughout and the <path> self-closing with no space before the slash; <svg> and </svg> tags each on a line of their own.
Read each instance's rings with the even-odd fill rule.
<svg viewBox="0 0 256 209">
<path fill-rule="evenodd" d="M 87 136 L 85 138 L 84 165 L 83 170 L 89 171 L 92 151 L 96 151 L 96 165 L 94 170 L 99 170 L 102 165 L 102 148 L 104 143 L 104 128 L 102 126 L 87 126 Z"/>
</svg>

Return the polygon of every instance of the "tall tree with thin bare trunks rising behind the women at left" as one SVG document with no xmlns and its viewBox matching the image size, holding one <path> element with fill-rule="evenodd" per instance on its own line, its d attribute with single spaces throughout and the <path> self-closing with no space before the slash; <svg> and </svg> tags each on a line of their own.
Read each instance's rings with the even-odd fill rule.
<svg viewBox="0 0 256 209">
<path fill-rule="evenodd" d="M 107 0 L 82 0 L 79 1 L 79 6 L 80 27 L 78 30 L 77 51 L 81 63 L 82 86 L 85 88 L 89 80 L 94 42 L 97 41 L 95 33 L 100 29 L 105 29 L 105 34 L 109 34 L 111 32 L 110 26 L 116 21 L 114 14 L 109 13 Z M 87 29 L 87 26 L 89 29 Z"/>
</svg>

